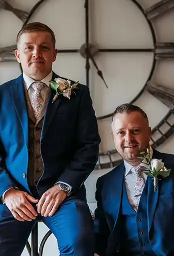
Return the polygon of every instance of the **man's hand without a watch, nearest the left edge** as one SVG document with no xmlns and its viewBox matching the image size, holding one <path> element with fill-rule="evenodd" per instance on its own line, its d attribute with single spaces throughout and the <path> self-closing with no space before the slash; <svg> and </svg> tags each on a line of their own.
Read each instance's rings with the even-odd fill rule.
<svg viewBox="0 0 174 256">
<path fill-rule="evenodd" d="M 27 192 L 10 188 L 5 192 L 4 200 L 14 218 L 19 221 L 31 221 L 38 215 L 34 207 L 31 205 L 31 203 L 29 203 L 29 201 L 32 203 L 37 203 L 38 200 Z"/>
</svg>

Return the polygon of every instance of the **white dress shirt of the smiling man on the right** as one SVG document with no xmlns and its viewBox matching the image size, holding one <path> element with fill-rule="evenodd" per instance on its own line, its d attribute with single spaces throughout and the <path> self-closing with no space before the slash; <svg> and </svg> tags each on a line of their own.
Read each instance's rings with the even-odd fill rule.
<svg viewBox="0 0 174 256">
<path fill-rule="evenodd" d="M 150 156 L 152 158 L 153 155 L 153 149 L 152 147 L 150 147 Z M 144 160 L 142 161 L 142 163 L 144 162 Z M 133 165 L 131 165 L 130 163 L 124 161 L 125 164 L 125 183 L 126 183 L 126 191 L 127 191 L 127 195 L 128 195 L 128 200 L 131 204 L 131 206 L 137 210 L 137 207 L 134 204 L 134 179 L 135 176 L 131 171 L 131 168 L 133 167 Z M 143 164 L 142 164 L 143 165 Z M 148 175 L 146 173 L 144 173 L 143 171 L 141 172 L 142 177 L 144 178 L 144 181 L 146 183 L 147 177 Z"/>
</svg>

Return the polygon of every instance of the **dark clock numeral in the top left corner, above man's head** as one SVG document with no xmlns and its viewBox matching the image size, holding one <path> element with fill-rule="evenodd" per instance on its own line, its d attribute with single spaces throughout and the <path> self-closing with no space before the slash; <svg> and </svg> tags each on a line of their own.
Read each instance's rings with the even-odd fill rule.
<svg viewBox="0 0 174 256">
<path fill-rule="evenodd" d="M 24 10 L 20 10 L 20 9 L 12 7 L 12 5 L 7 2 L 7 0 L 0 0 L 0 9 L 11 11 L 12 13 L 14 13 L 14 15 L 16 15 L 23 22 L 26 21 L 28 15 L 29 15 L 29 13 Z"/>
</svg>

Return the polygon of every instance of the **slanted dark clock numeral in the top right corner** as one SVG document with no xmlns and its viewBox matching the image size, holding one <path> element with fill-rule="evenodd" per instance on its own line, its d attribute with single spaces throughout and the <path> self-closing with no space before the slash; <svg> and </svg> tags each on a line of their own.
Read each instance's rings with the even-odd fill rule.
<svg viewBox="0 0 174 256">
<path fill-rule="evenodd" d="M 153 19 L 172 8 L 174 8 L 174 0 L 161 0 L 160 2 L 149 7 L 146 10 L 146 14 L 148 19 Z"/>
</svg>

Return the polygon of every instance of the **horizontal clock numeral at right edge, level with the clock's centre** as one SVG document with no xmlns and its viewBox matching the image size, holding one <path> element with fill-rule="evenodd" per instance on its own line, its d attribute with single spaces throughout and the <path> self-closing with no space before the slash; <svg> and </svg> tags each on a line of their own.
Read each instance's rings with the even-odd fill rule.
<svg viewBox="0 0 174 256">
<path fill-rule="evenodd" d="M 155 58 L 174 58 L 174 42 L 158 42 L 156 44 Z"/>
</svg>

